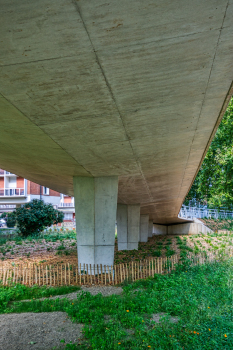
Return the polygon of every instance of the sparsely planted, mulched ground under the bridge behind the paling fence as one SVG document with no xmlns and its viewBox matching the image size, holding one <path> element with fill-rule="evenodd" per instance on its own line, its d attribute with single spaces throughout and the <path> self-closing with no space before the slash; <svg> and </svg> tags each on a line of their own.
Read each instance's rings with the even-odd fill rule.
<svg viewBox="0 0 233 350">
<path fill-rule="evenodd" d="M 75 230 L 47 230 L 39 236 L 26 238 L 12 235 L 6 238 L 0 235 L 0 259 L 4 266 L 20 263 L 57 262 L 77 263 L 77 239 Z M 220 244 L 221 242 L 221 244 Z M 140 261 L 149 257 L 170 257 L 174 254 L 179 258 L 189 253 L 221 252 L 233 247 L 233 234 L 222 232 L 199 235 L 153 236 L 147 243 L 139 243 L 138 250 L 118 251 L 115 241 L 115 264 Z"/>
</svg>

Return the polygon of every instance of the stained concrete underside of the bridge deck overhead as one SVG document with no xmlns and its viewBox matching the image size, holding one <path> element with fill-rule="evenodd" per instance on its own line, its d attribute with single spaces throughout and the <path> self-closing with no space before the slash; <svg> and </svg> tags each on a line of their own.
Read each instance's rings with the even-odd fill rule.
<svg viewBox="0 0 233 350">
<path fill-rule="evenodd" d="M 73 195 L 118 176 L 118 203 L 178 222 L 227 107 L 233 0 L 2 0 L 0 165 Z"/>
</svg>

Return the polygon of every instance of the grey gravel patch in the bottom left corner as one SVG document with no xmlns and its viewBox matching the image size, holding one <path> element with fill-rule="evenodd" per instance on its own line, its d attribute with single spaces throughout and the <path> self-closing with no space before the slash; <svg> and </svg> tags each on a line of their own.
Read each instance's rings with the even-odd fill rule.
<svg viewBox="0 0 233 350">
<path fill-rule="evenodd" d="M 65 312 L 0 315 L 0 350 L 49 350 L 78 342 L 83 325 L 73 323 Z"/>
</svg>

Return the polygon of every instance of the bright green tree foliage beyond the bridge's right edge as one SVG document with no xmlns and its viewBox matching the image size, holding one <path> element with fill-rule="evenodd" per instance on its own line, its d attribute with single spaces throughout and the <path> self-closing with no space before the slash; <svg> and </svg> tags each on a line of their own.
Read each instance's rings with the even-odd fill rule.
<svg viewBox="0 0 233 350">
<path fill-rule="evenodd" d="M 185 199 L 233 209 L 233 98 Z"/>
</svg>

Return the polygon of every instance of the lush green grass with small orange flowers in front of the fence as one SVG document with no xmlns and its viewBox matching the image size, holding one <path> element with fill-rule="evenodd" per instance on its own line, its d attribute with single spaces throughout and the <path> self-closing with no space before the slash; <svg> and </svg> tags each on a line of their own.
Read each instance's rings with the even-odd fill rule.
<svg viewBox="0 0 233 350">
<path fill-rule="evenodd" d="M 79 344 L 63 340 L 67 349 L 232 349 L 232 277 L 232 259 L 200 266 L 184 260 L 170 275 L 128 283 L 122 295 L 109 297 L 82 292 L 76 300 L 39 301 L 31 294 L 21 302 L 10 293 L 18 286 L 2 287 L 0 295 L 8 294 L 1 313 L 65 311 L 85 325 Z M 164 316 L 156 323 L 159 313 Z"/>
</svg>

